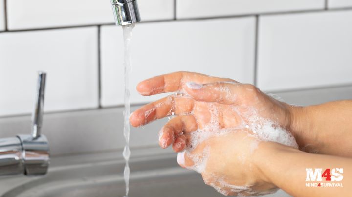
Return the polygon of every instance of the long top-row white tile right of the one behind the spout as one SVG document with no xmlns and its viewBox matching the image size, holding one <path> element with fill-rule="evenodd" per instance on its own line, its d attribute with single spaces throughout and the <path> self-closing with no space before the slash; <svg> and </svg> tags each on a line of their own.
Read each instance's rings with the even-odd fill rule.
<svg viewBox="0 0 352 197">
<path fill-rule="evenodd" d="M 179 19 L 324 8 L 324 0 L 177 0 L 176 2 L 176 16 Z"/>
</svg>

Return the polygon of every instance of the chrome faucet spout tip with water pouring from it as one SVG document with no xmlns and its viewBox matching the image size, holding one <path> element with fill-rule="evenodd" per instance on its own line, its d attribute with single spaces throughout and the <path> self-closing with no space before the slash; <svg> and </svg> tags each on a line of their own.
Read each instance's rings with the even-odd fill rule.
<svg viewBox="0 0 352 197">
<path fill-rule="evenodd" d="M 137 0 L 110 0 L 116 25 L 129 25 L 139 22 L 139 9 Z"/>
</svg>

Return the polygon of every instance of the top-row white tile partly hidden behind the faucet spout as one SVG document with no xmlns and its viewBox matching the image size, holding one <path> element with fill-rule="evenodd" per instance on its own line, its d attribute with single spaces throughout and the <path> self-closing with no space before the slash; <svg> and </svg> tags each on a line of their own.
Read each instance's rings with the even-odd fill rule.
<svg viewBox="0 0 352 197">
<path fill-rule="evenodd" d="M 173 0 L 138 0 L 143 21 L 172 19 Z M 114 22 L 110 0 L 8 0 L 8 28 L 28 29 Z"/>
</svg>

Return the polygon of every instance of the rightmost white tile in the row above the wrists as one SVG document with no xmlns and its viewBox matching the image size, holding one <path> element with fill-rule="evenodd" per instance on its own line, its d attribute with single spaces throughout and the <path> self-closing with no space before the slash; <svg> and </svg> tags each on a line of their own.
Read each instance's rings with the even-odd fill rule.
<svg viewBox="0 0 352 197">
<path fill-rule="evenodd" d="M 258 85 L 264 90 L 352 83 L 352 11 L 263 16 Z"/>
</svg>

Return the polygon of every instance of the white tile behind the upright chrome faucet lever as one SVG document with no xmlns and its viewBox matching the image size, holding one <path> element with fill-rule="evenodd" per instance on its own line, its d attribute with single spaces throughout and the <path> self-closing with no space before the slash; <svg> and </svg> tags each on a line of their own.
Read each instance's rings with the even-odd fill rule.
<svg viewBox="0 0 352 197">
<path fill-rule="evenodd" d="M 98 106 L 97 27 L 0 34 L 0 116 L 30 113 L 37 70 L 45 111 Z"/>
</svg>

